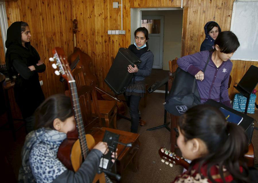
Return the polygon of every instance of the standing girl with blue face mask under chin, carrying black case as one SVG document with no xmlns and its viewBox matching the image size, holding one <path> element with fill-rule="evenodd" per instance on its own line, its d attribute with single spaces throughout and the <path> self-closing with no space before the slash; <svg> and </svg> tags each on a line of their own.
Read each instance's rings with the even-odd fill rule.
<svg viewBox="0 0 258 183">
<path fill-rule="evenodd" d="M 134 77 L 129 83 L 124 93 L 129 112 L 131 116 L 131 132 L 137 133 L 139 124 L 139 102 L 145 93 L 145 77 L 149 76 L 153 66 L 153 53 L 148 49 L 148 30 L 145 27 L 139 27 L 134 32 L 134 44 L 128 49 L 131 50 L 140 60 L 141 63 L 137 68 L 136 65 L 128 66 L 128 72 L 134 73 Z M 140 121 L 140 125 L 145 125 L 144 121 Z"/>
</svg>

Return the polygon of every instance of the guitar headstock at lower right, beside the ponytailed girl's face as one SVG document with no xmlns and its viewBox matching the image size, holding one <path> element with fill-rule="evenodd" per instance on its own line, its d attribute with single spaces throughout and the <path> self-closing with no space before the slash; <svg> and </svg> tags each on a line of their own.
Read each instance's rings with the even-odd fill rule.
<svg viewBox="0 0 258 183">
<path fill-rule="evenodd" d="M 159 149 L 159 156 L 162 158 L 161 162 L 169 165 L 170 167 L 173 167 L 173 165 L 181 165 L 186 169 L 189 167 L 189 163 L 187 161 L 166 148 L 161 147 Z"/>
</svg>

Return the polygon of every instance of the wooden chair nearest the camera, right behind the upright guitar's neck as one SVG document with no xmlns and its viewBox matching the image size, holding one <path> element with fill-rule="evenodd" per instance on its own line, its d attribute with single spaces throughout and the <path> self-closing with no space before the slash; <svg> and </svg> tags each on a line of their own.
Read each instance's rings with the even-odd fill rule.
<svg viewBox="0 0 258 183">
<path fill-rule="evenodd" d="M 138 171 L 138 163 L 137 163 L 137 151 L 140 146 L 140 141 L 138 139 L 139 134 L 138 133 L 131 133 L 127 131 L 121 131 L 117 129 L 112 128 L 106 128 L 101 127 L 101 121 L 100 120 L 94 120 L 95 122 L 92 122 L 92 119 L 94 119 L 92 115 L 92 108 L 91 105 L 93 105 L 94 110 L 97 111 L 96 115 L 99 116 L 97 119 L 100 119 L 100 112 L 99 112 L 99 101 L 97 100 L 97 97 L 95 95 L 95 86 L 94 83 L 91 84 L 91 86 L 81 86 L 79 87 L 78 96 L 81 106 L 81 111 L 83 115 L 83 120 L 85 120 L 85 131 L 86 133 L 91 133 L 95 139 L 95 143 L 98 143 L 99 141 L 102 141 L 105 130 L 111 131 L 113 133 L 119 134 L 119 141 L 122 143 L 132 143 L 132 147 L 126 147 L 124 150 L 124 146 L 121 144 L 118 144 L 118 154 L 122 152 L 118 160 L 116 161 L 117 165 L 117 172 L 122 176 L 124 169 L 128 166 L 128 164 L 133 164 L 133 171 Z M 90 96 L 91 95 L 91 96 Z M 92 100 L 91 100 L 92 97 Z M 93 103 L 93 104 L 92 104 Z M 98 123 L 98 124 L 97 124 Z M 92 127 L 95 125 L 94 127 Z M 123 176 L 122 176 L 123 179 Z M 122 180 L 120 180 L 122 182 Z"/>
</svg>

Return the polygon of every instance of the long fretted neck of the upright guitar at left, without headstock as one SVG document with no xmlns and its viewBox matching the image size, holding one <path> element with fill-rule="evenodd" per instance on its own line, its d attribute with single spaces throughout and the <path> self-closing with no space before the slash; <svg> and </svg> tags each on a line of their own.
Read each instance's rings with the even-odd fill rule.
<svg viewBox="0 0 258 183">
<path fill-rule="evenodd" d="M 71 99 L 73 104 L 73 112 L 74 117 L 76 121 L 76 127 L 79 134 L 79 141 L 81 145 L 81 153 L 84 159 L 86 159 L 87 155 L 89 154 L 89 149 L 87 145 L 87 141 L 85 138 L 85 130 L 84 130 L 84 124 L 83 124 L 83 118 L 81 115 L 81 108 L 79 103 L 79 97 L 77 94 L 77 87 L 75 84 L 75 80 L 69 81 L 69 87 L 71 92 Z"/>
</svg>

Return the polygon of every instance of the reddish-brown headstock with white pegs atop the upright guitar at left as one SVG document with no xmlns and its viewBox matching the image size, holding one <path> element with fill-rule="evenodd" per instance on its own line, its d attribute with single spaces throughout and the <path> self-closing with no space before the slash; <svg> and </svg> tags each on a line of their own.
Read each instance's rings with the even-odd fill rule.
<svg viewBox="0 0 258 183">
<path fill-rule="evenodd" d="M 69 81 L 74 81 L 70 66 L 68 64 L 67 58 L 64 54 L 64 50 L 62 48 L 56 47 L 52 50 L 53 57 L 49 58 L 50 62 L 55 62 L 52 64 L 54 69 L 58 68 L 59 70 L 55 71 L 56 75 L 62 74 L 62 77 Z"/>
</svg>

